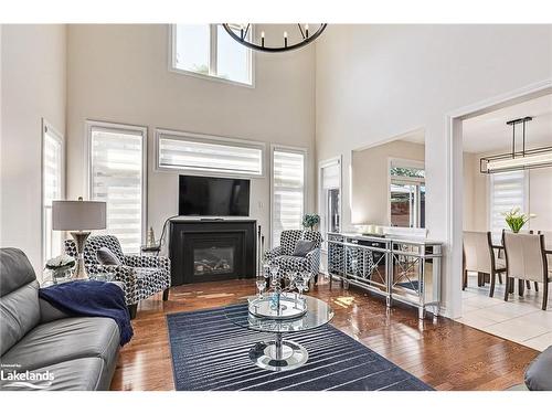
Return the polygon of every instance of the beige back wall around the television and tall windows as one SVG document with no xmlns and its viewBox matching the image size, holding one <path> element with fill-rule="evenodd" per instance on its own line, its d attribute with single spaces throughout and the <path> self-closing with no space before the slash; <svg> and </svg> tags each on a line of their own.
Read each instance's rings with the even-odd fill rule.
<svg viewBox="0 0 552 414">
<path fill-rule="evenodd" d="M 255 53 L 255 87 L 168 71 L 169 26 L 68 26 L 67 195 L 85 194 L 86 119 L 147 126 L 148 226 L 178 213 L 178 173 L 155 170 L 155 128 L 305 147 L 314 182 L 315 50 Z M 269 161 L 267 146 L 267 172 Z M 315 193 L 309 193 L 309 209 Z M 252 182 L 251 215 L 269 241 L 269 176 Z"/>
</svg>

